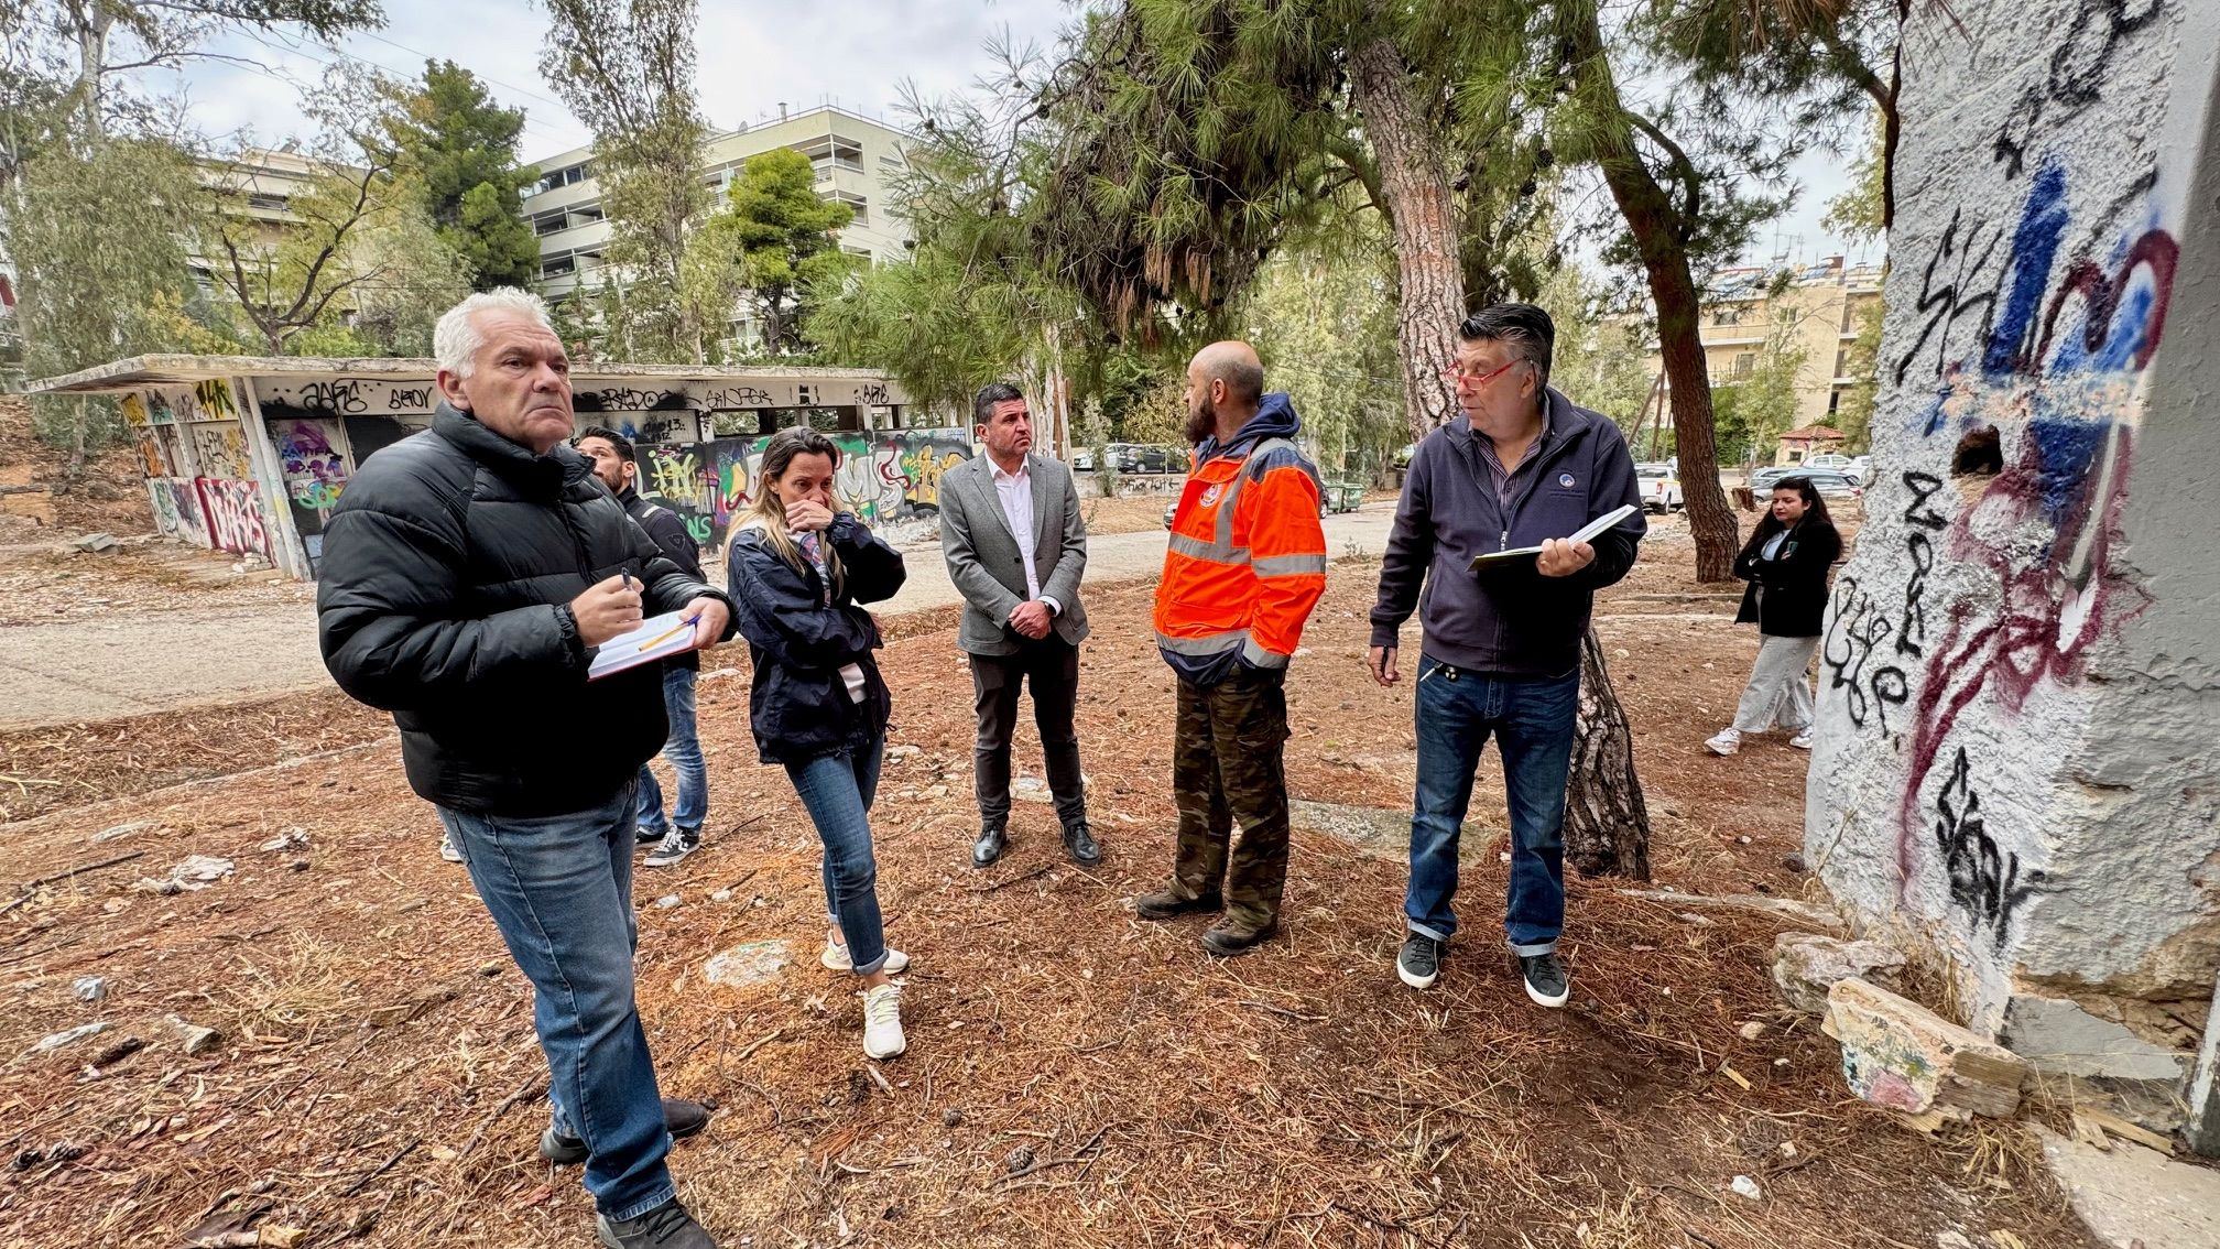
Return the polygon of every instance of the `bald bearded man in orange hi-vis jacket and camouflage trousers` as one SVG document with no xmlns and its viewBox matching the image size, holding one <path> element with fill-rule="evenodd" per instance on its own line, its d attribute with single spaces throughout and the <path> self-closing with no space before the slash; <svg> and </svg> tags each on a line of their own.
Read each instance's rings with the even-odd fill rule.
<svg viewBox="0 0 2220 1249">
<path fill-rule="evenodd" d="M 1194 471 L 1157 584 L 1157 647 L 1179 673 L 1172 882 L 1134 898 L 1150 920 L 1219 911 L 1203 949 L 1241 953 L 1279 931 L 1288 882 L 1288 658 L 1325 593 L 1319 469 L 1283 393 L 1263 393 L 1248 342 L 1188 364 Z M 1241 840 L 1232 827 L 1239 820 Z"/>
</svg>

